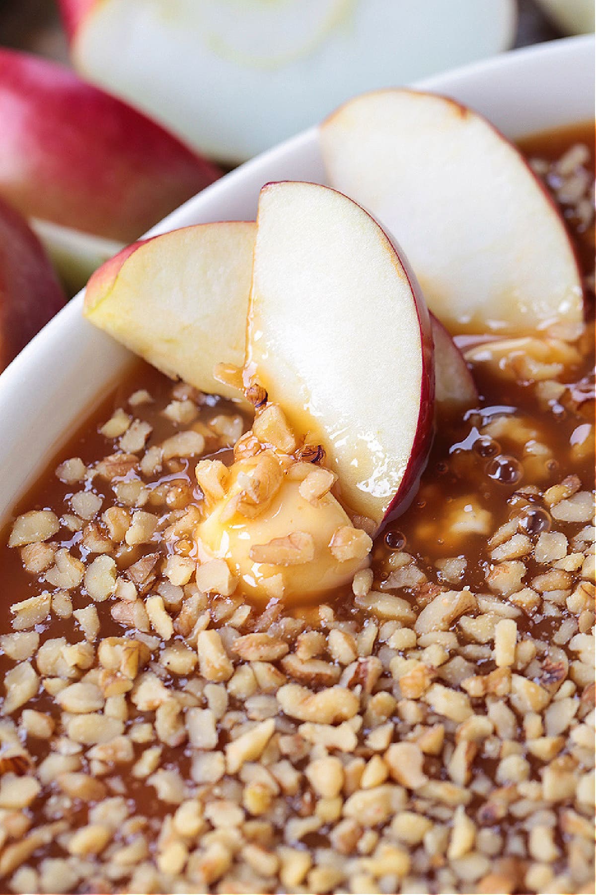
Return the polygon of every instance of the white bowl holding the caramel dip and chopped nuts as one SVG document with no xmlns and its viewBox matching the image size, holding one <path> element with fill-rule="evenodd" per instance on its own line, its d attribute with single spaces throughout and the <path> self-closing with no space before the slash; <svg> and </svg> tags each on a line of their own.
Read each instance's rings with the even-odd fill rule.
<svg viewBox="0 0 596 895">
<path fill-rule="evenodd" d="M 517 138 L 592 118 L 593 68 L 593 38 L 567 38 L 434 76 L 416 87 L 474 107 Z M 324 183 L 316 128 L 237 168 L 150 234 L 254 218 L 258 192 L 271 180 Z M 80 293 L 0 376 L 0 519 L 130 362 L 129 352 L 83 320 L 82 303 Z"/>
</svg>

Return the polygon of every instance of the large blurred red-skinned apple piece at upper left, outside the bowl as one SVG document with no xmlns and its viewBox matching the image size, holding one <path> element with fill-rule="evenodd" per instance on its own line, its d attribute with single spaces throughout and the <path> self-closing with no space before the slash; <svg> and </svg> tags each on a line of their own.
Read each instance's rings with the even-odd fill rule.
<svg viewBox="0 0 596 895">
<path fill-rule="evenodd" d="M 0 196 L 130 243 L 221 172 L 62 65 L 0 49 Z"/>
</svg>

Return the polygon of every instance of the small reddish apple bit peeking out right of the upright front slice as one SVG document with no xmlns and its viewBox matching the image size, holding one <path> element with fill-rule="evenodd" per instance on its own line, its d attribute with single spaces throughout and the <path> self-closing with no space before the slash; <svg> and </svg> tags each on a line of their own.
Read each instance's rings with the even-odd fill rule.
<svg viewBox="0 0 596 895">
<path fill-rule="evenodd" d="M 448 412 L 474 406 L 478 401 L 478 389 L 464 355 L 434 314 L 431 314 L 431 325 L 436 405 Z"/>
</svg>

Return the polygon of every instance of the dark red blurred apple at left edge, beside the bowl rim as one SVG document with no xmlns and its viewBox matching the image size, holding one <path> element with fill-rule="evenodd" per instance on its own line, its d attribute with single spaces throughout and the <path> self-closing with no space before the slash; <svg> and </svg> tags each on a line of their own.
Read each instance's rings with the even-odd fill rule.
<svg viewBox="0 0 596 895">
<path fill-rule="evenodd" d="M 0 371 L 64 302 L 38 237 L 17 211 L 0 201 Z"/>
</svg>

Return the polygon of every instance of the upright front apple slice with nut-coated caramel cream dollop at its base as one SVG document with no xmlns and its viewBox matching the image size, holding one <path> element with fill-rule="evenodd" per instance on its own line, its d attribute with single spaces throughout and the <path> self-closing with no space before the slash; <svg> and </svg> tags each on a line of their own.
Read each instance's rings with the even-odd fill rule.
<svg viewBox="0 0 596 895">
<path fill-rule="evenodd" d="M 222 560 L 257 601 L 352 582 L 424 468 L 433 372 L 428 311 L 374 219 L 324 186 L 265 186 L 245 366 L 256 418 L 231 469 L 197 466 L 199 586 L 221 588 Z"/>
</svg>

